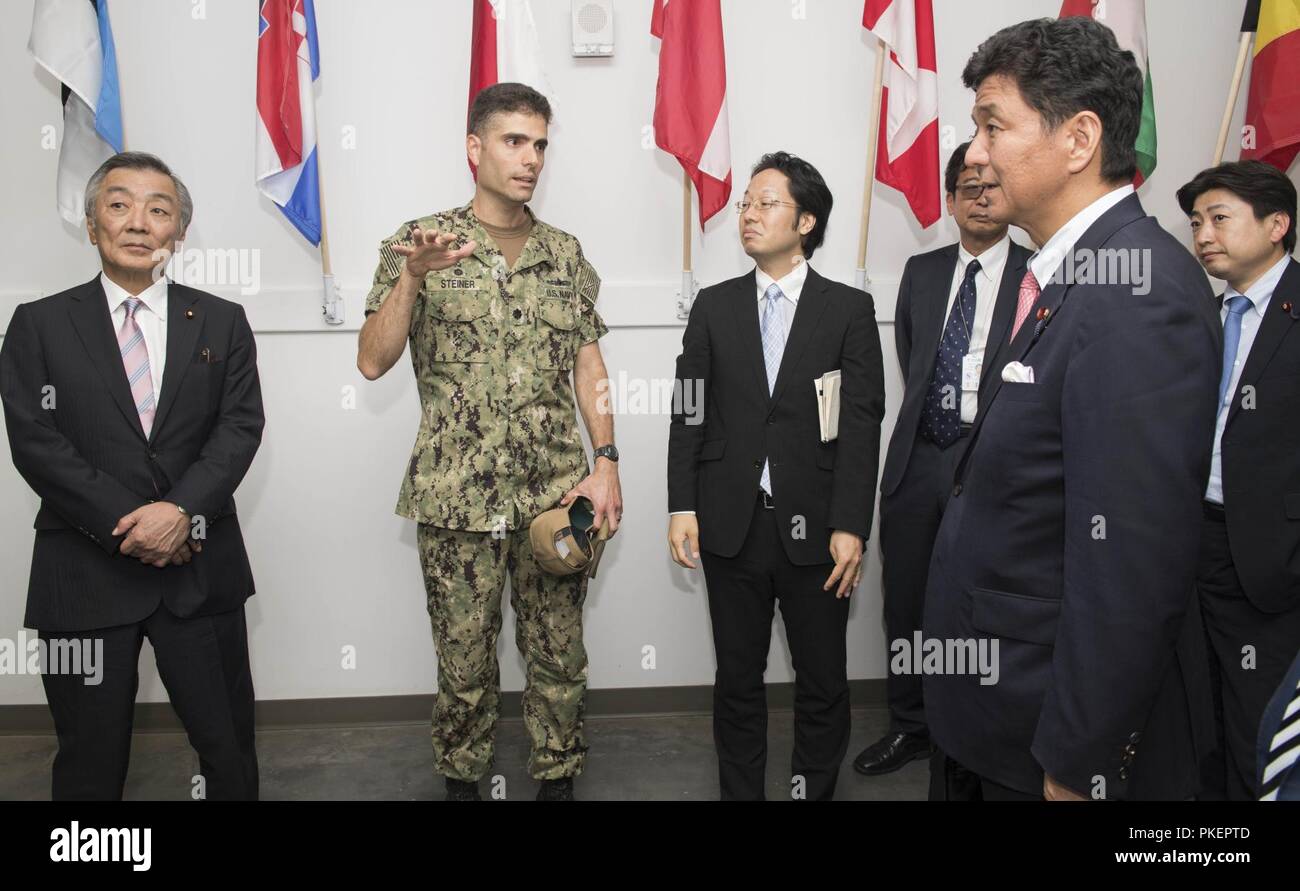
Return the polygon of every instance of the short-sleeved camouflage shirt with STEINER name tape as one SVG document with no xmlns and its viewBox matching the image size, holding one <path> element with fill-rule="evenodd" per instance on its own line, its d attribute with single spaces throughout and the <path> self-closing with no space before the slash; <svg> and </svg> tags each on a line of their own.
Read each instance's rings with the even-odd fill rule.
<svg viewBox="0 0 1300 891">
<path fill-rule="evenodd" d="M 384 239 L 367 315 L 393 293 L 404 263 L 393 246 L 410 245 L 416 225 L 477 246 L 425 276 L 416 295 L 420 431 L 396 512 L 469 532 L 524 528 L 588 473 L 569 373 L 578 347 L 608 330 L 595 311 L 601 280 L 573 235 L 536 217 L 507 269 L 465 204 Z"/>
</svg>

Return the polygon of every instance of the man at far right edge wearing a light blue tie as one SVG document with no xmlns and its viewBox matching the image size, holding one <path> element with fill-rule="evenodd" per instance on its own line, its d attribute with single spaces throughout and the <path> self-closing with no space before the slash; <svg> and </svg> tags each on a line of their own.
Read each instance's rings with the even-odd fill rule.
<svg viewBox="0 0 1300 891">
<path fill-rule="evenodd" d="M 1196 568 L 1217 753 L 1201 797 L 1260 797 L 1260 718 L 1300 649 L 1300 263 L 1296 187 L 1262 161 L 1178 190 L 1221 298 L 1223 372 Z M 1271 779 L 1271 778 L 1270 778 Z"/>
</svg>

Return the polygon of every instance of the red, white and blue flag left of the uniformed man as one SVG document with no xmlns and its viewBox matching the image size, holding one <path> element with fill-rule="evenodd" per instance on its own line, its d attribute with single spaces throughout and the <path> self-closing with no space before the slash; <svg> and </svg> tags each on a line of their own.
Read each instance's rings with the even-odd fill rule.
<svg viewBox="0 0 1300 891">
<path fill-rule="evenodd" d="M 321 242 L 316 172 L 320 77 L 312 0 L 261 0 L 257 21 L 257 187 L 312 245 Z"/>
</svg>

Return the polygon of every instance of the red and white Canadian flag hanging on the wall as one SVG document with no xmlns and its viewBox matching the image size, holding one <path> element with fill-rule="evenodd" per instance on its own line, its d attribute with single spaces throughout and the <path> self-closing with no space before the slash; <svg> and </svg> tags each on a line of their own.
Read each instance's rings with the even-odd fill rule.
<svg viewBox="0 0 1300 891">
<path fill-rule="evenodd" d="M 940 215 L 939 78 L 931 0 L 867 0 L 862 26 L 889 48 L 876 180 L 904 194 L 924 229 Z"/>
</svg>

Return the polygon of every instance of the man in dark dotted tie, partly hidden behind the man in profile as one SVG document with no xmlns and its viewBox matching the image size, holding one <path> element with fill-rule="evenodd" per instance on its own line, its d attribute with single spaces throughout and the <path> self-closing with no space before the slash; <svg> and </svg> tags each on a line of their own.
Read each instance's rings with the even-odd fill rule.
<svg viewBox="0 0 1300 891">
<path fill-rule="evenodd" d="M 868 777 L 931 754 L 922 676 L 896 659 L 920 633 L 930 553 L 953 488 L 953 472 L 975 423 L 980 393 L 1001 369 L 1030 251 L 994 220 L 996 183 L 966 165 L 970 143 L 944 172 L 948 213 L 961 241 L 907 260 L 898 285 L 894 343 L 904 395 L 880 481 L 880 567 L 890 671 L 889 732 L 858 753 Z M 894 670 L 900 669 L 900 670 Z"/>
</svg>

